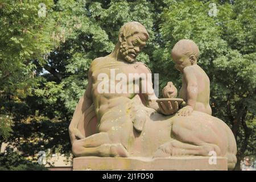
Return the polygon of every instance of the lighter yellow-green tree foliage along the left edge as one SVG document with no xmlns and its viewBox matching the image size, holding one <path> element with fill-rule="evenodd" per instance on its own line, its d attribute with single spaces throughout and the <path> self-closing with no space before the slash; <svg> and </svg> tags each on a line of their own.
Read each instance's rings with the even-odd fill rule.
<svg viewBox="0 0 256 182">
<path fill-rule="evenodd" d="M 49 18 L 40 18 L 40 1 L 0 1 L 0 142 L 11 133 L 14 111 L 10 104 L 31 95 L 40 77 L 36 77 L 32 59 L 51 51 Z M 51 7 L 52 1 L 45 1 Z"/>
</svg>

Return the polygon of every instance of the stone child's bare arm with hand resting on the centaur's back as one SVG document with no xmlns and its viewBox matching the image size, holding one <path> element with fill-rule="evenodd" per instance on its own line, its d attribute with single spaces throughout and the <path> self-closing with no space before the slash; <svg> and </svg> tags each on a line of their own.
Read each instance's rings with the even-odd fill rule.
<svg viewBox="0 0 256 182">
<path fill-rule="evenodd" d="M 196 99 L 198 94 L 198 86 L 196 76 L 191 67 L 183 69 L 183 76 L 187 83 L 187 106 L 178 111 L 179 115 L 190 115 L 196 106 Z"/>
</svg>

